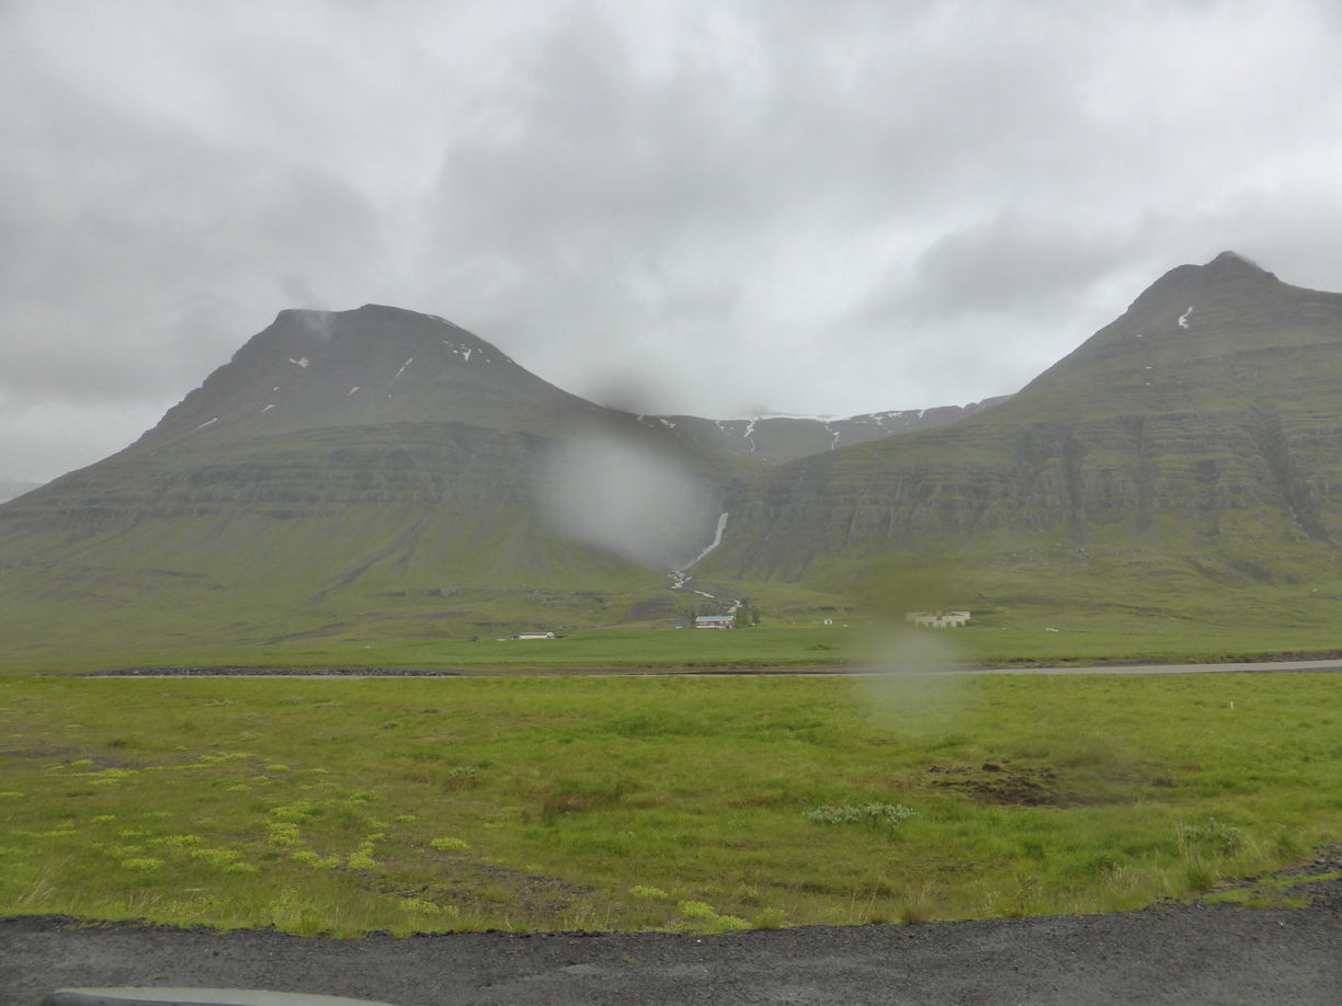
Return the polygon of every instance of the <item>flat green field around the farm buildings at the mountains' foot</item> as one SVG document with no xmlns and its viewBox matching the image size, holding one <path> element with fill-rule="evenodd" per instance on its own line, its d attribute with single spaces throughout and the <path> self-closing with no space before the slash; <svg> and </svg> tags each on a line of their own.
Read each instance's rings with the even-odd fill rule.
<svg viewBox="0 0 1342 1006">
<path fill-rule="evenodd" d="M 1103 661 L 1224 663 L 1283 655 L 1333 655 L 1342 651 L 1334 613 L 1294 620 L 1264 617 L 1189 618 L 1174 614 L 1090 610 L 1029 610 L 976 614 L 969 626 L 923 630 L 934 640 L 935 668 L 1021 664 L 1094 664 Z M 1329 608 L 1335 606 L 1330 605 Z M 1279 614 L 1272 609 L 1270 614 Z M 824 618 L 835 624 L 825 626 Z M 825 612 L 809 618 L 764 624 L 735 632 L 678 630 L 674 626 L 561 629 L 554 640 L 513 640 L 506 634 L 451 637 L 416 634 L 391 621 L 325 633 L 299 634 L 264 645 L 239 645 L 207 637 L 160 634 L 145 644 L 109 633 L 103 645 L 87 637 L 66 644 L 59 629 L 40 652 L 0 655 L 0 673 L 105 671 L 134 667 L 259 668 L 420 668 L 498 672 L 713 668 L 921 669 L 909 665 L 902 625 L 870 614 Z M 918 648 L 915 652 L 923 652 Z"/>
</svg>

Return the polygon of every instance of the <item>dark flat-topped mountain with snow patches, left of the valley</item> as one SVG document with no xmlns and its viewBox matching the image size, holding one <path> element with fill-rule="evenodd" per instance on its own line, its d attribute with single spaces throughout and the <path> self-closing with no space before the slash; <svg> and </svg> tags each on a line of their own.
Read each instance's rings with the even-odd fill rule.
<svg viewBox="0 0 1342 1006">
<path fill-rule="evenodd" d="M 9 610 L 264 637 L 442 612 L 444 592 L 656 582 L 541 506 L 557 447 L 589 429 L 676 452 L 443 319 L 283 311 L 125 451 L 0 507 Z M 707 510 L 652 528 L 640 558 L 691 553 Z"/>
</svg>

